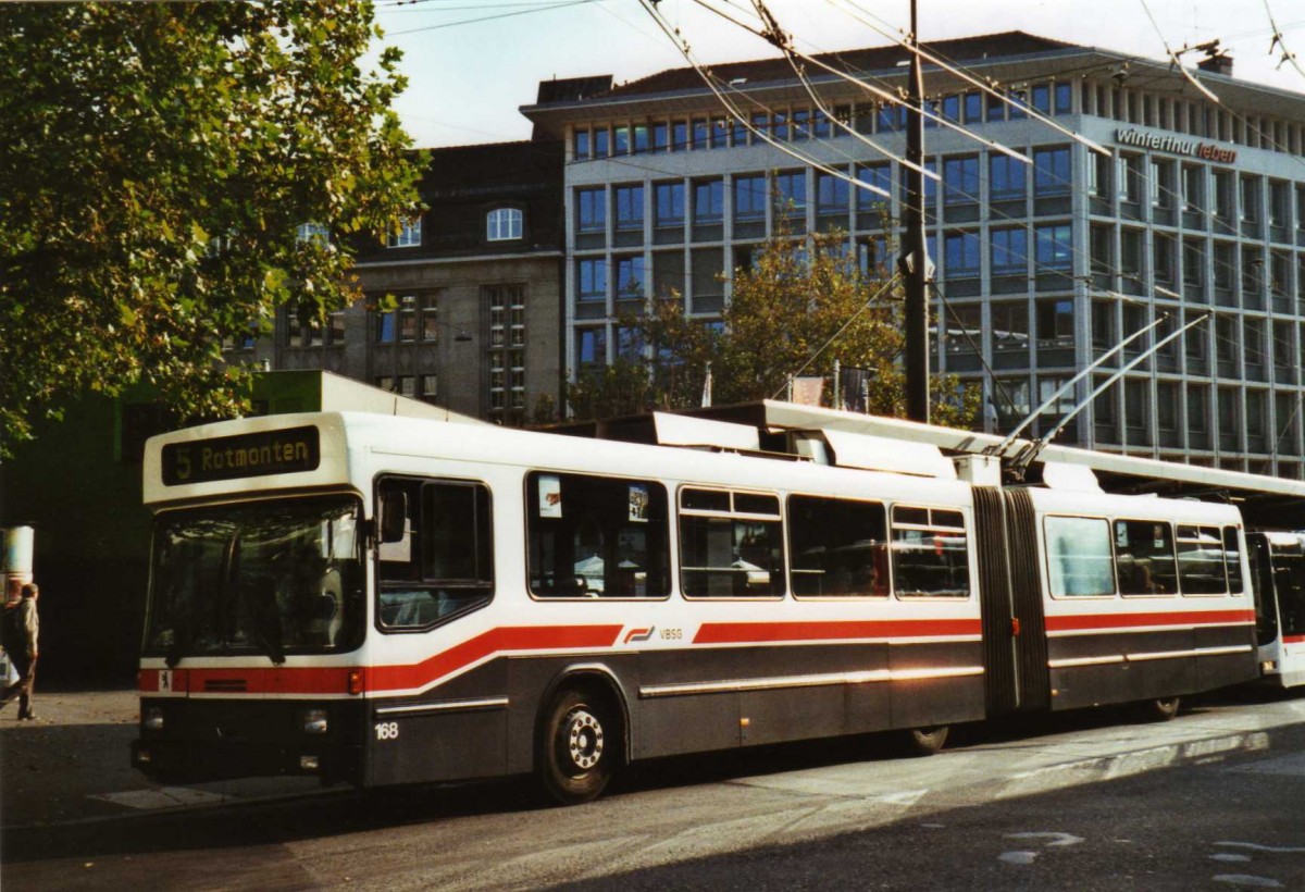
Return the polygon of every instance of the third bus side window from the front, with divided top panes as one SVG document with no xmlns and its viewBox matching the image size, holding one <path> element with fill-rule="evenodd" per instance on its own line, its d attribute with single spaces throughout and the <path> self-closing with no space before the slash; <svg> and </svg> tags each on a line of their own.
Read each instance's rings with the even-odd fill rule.
<svg viewBox="0 0 1305 892">
<path fill-rule="evenodd" d="M 683 490 L 680 584 L 685 597 L 783 596 L 782 529 L 774 495 Z"/>
</svg>

